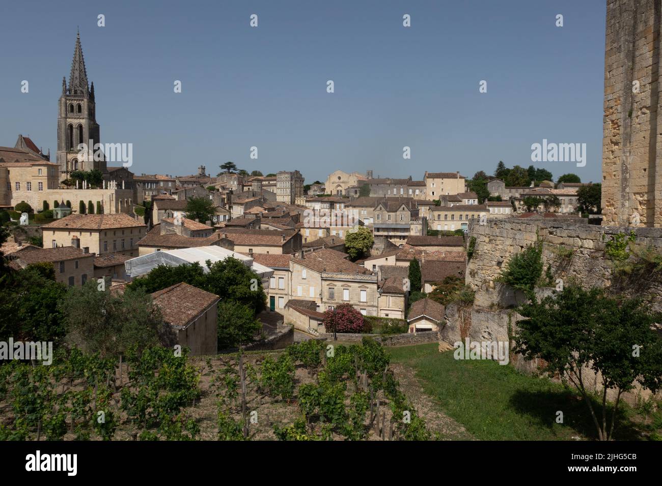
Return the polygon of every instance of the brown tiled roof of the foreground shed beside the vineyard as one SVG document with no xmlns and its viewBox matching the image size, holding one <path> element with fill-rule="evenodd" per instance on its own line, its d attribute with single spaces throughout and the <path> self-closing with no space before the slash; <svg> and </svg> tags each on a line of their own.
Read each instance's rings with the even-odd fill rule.
<svg viewBox="0 0 662 486">
<path fill-rule="evenodd" d="M 164 321 L 173 327 L 185 329 L 196 317 L 220 299 L 216 294 L 180 282 L 152 294 Z"/>
</svg>

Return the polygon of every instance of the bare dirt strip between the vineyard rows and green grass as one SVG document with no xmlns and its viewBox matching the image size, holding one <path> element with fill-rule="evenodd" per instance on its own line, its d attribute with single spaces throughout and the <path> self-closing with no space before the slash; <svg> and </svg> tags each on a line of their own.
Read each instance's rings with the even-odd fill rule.
<svg viewBox="0 0 662 486">
<path fill-rule="evenodd" d="M 428 430 L 432 432 L 432 438 L 475 440 L 463 425 L 441 412 L 434 399 L 424 393 L 412 368 L 403 364 L 391 363 L 391 370 L 393 370 L 396 380 L 400 382 L 402 392 L 414 404 L 418 415 L 425 419 Z"/>
</svg>

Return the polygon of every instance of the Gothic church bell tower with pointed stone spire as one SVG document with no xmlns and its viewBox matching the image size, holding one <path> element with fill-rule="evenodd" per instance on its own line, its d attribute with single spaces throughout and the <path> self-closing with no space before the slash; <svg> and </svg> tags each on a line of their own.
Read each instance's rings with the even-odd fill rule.
<svg viewBox="0 0 662 486">
<path fill-rule="evenodd" d="M 60 181 L 68 179 L 71 171 L 91 171 L 99 169 L 107 175 L 105 157 L 95 161 L 93 157 L 85 160 L 79 157 L 79 143 L 101 143 L 99 124 L 95 118 L 94 83 L 88 89 L 87 71 L 83 60 L 80 33 L 76 35 L 73 48 L 73 61 L 69 86 L 62 78 L 62 96 L 58 106 L 58 164 L 60 165 Z"/>
</svg>

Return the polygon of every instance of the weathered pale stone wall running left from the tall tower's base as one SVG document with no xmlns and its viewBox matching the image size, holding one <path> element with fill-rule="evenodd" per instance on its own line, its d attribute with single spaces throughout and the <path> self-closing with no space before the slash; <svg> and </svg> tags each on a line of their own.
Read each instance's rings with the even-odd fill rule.
<svg viewBox="0 0 662 486">
<path fill-rule="evenodd" d="M 473 257 L 467 264 L 466 283 L 473 290 L 495 288 L 495 280 L 512 255 L 519 253 L 540 236 L 545 268 L 551 264 L 555 278 L 574 280 L 585 288 L 612 284 L 612 268 L 604 254 L 604 243 L 618 233 L 636 234 L 635 245 L 651 245 L 662 253 L 662 228 L 614 227 L 538 220 L 491 220 L 486 225 L 471 226 L 475 237 Z M 538 234 L 536 234 L 536 232 Z M 568 253 L 573 251 L 571 257 Z M 641 288 L 638 289 L 638 292 Z M 655 302 L 662 311 L 662 284 L 653 282 L 646 292 L 660 298 Z M 628 294 L 628 289 L 624 289 Z M 480 293 L 479 293 L 480 294 Z M 477 294 L 477 297 L 479 297 Z"/>
</svg>

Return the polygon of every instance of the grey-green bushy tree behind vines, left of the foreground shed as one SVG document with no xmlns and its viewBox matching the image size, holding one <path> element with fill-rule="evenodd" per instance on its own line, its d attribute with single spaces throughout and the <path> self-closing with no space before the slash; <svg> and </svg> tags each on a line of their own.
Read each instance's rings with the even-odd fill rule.
<svg viewBox="0 0 662 486">
<path fill-rule="evenodd" d="M 110 286 L 99 291 L 96 280 L 89 280 L 70 287 L 60 304 L 71 341 L 87 352 L 109 356 L 131 346 L 144 349 L 174 341 L 159 307 L 142 289 L 111 294 Z"/>
</svg>

